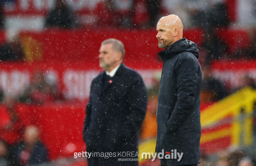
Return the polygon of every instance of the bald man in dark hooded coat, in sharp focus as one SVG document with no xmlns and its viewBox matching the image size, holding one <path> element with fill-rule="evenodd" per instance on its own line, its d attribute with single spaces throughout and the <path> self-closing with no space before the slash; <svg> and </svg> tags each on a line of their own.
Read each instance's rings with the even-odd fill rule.
<svg viewBox="0 0 256 166">
<path fill-rule="evenodd" d="M 161 166 L 196 166 L 200 163 L 200 89 L 202 70 L 196 43 L 182 38 L 176 15 L 161 18 L 156 30 L 163 68 L 157 109 L 156 152 Z M 161 155 L 160 155 L 161 156 Z"/>
</svg>

